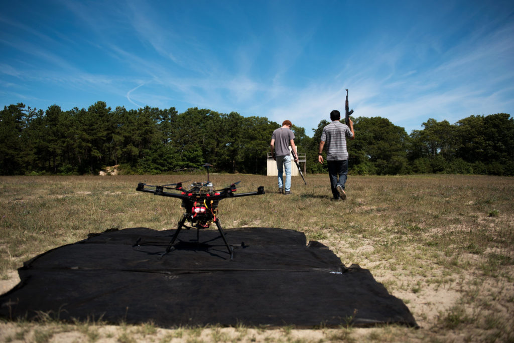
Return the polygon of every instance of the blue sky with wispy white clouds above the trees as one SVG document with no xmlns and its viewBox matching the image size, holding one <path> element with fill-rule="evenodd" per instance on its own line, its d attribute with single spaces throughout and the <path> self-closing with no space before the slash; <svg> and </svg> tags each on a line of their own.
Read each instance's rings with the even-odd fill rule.
<svg viewBox="0 0 514 343">
<path fill-rule="evenodd" d="M 514 113 L 512 0 L 3 1 L 0 27 L 1 106 L 199 107 L 308 136 L 345 88 L 408 134 Z"/>
</svg>

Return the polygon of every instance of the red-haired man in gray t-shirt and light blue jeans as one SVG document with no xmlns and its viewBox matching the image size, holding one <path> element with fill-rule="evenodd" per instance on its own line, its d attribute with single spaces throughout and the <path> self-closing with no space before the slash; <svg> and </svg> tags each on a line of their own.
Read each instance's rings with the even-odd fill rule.
<svg viewBox="0 0 514 343">
<path fill-rule="evenodd" d="M 271 135 L 271 156 L 273 160 L 277 161 L 279 192 L 285 190 L 284 194 L 291 194 L 291 156 L 289 151 L 289 144 L 291 149 L 295 151 L 295 161 L 298 162 L 298 154 L 295 145 L 295 134 L 291 130 L 291 122 L 284 120 L 282 127 L 273 131 Z M 286 172 L 286 182 L 284 183 L 284 169 Z"/>
</svg>

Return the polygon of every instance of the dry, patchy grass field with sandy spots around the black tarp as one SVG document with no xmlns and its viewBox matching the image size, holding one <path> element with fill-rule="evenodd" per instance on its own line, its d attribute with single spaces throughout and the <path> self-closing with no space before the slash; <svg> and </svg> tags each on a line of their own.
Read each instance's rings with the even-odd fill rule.
<svg viewBox="0 0 514 343">
<path fill-rule="evenodd" d="M 0 177 L 0 284 L 49 249 L 108 228 L 175 228 L 180 201 L 136 192 L 138 182 L 205 181 L 206 176 Z M 514 342 L 514 178 L 456 175 L 350 176 L 348 200 L 333 201 L 327 175 L 211 175 L 266 194 L 225 199 L 224 227 L 298 230 L 349 266 L 369 269 L 402 299 L 421 327 L 157 328 L 102 322 L 0 321 L 0 341 L 506 341 Z M 5 289 L 7 288 L 7 289 Z"/>
</svg>

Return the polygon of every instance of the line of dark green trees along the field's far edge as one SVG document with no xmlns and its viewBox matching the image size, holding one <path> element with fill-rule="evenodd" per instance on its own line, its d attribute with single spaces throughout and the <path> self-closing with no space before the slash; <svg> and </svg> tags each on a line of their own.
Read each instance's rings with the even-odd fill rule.
<svg viewBox="0 0 514 343">
<path fill-rule="evenodd" d="M 293 126 L 308 173 L 326 172 L 326 164 L 317 162 L 326 124 L 322 120 L 312 138 Z M 98 174 L 113 165 L 125 174 L 160 174 L 204 163 L 218 172 L 265 174 L 271 133 L 279 126 L 264 117 L 198 108 L 112 110 L 97 102 L 43 111 L 10 105 L 0 112 L 0 174 Z M 354 127 L 357 139 L 348 142 L 352 174 L 514 175 L 514 122 L 505 113 L 455 124 L 429 119 L 410 135 L 380 117 L 356 118 Z"/>
</svg>

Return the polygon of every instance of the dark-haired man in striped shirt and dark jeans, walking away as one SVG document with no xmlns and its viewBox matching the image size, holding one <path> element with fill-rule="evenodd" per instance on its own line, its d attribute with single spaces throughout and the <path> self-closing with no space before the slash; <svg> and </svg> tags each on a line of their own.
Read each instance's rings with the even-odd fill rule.
<svg viewBox="0 0 514 343">
<path fill-rule="evenodd" d="M 330 112 L 332 123 L 323 128 L 321 134 L 318 161 L 323 164 L 321 155 L 326 144 L 326 163 L 328 165 L 328 176 L 332 187 L 332 195 L 335 200 L 346 200 L 344 184 L 348 174 L 348 151 L 346 150 L 346 136 L 355 139 L 353 122 L 350 119 L 350 127 L 341 123 L 341 113 L 335 109 Z"/>
</svg>

